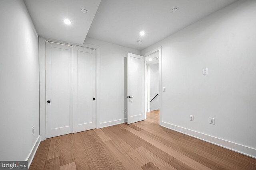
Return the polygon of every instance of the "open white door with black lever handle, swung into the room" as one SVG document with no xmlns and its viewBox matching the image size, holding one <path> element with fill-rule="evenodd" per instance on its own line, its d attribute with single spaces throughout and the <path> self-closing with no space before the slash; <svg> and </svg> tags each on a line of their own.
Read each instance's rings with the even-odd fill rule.
<svg viewBox="0 0 256 170">
<path fill-rule="evenodd" d="M 130 124 L 145 119 L 144 57 L 131 53 L 127 57 L 127 122 Z"/>
</svg>

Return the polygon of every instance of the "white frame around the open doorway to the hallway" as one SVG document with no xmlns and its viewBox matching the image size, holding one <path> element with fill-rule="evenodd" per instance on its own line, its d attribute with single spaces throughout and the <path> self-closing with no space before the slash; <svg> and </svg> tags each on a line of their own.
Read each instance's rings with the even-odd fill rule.
<svg viewBox="0 0 256 170">
<path fill-rule="evenodd" d="M 153 53 L 156 53 L 157 51 L 159 51 L 159 125 L 162 125 L 162 46 L 156 48 L 156 49 L 153 49 L 151 51 L 148 51 L 144 54 L 144 57 L 148 57 L 149 55 L 153 54 Z M 144 60 L 146 61 L 146 60 Z M 148 76 L 147 76 L 147 72 L 148 72 L 148 69 L 147 69 L 147 66 L 146 66 L 146 62 L 144 62 L 145 64 L 145 75 L 144 75 L 144 78 L 145 78 L 145 81 L 144 82 L 147 82 L 147 83 L 144 83 L 144 89 L 145 89 L 145 96 L 144 96 L 144 110 L 145 110 L 145 119 L 146 119 L 146 115 L 147 115 L 147 104 L 148 104 Z"/>
</svg>

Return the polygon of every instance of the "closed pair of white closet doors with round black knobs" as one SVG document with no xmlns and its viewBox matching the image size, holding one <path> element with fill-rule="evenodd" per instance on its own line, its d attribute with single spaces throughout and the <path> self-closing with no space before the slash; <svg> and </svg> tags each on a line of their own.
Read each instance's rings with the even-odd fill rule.
<svg viewBox="0 0 256 170">
<path fill-rule="evenodd" d="M 96 128 L 96 53 L 46 42 L 46 138 Z"/>
</svg>

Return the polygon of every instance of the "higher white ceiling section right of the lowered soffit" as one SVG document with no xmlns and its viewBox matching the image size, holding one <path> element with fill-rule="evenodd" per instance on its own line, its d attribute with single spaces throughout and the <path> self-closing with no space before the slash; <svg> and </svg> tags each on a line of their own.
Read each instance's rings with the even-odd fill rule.
<svg viewBox="0 0 256 170">
<path fill-rule="evenodd" d="M 101 0 L 87 36 L 141 50 L 235 1 Z"/>
</svg>

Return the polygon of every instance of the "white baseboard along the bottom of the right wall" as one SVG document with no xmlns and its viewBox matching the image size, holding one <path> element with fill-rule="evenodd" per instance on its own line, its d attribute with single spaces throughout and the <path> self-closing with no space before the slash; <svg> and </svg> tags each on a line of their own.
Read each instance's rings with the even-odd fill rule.
<svg viewBox="0 0 256 170">
<path fill-rule="evenodd" d="M 230 150 L 233 150 L 235 152 L 239 152 L 241 154 L 250 156 L 252 158 L 256 158 L 256 149 L 254 149 L 254 148 L 246 147 L 244 145 L 240 145 L 240 144 L 237 144 L 237 143 L 226 141 L 224 139 L 220 139 L 220 138 L 217 138 L 217 137 L 206 135 L 204 133 L 196 132 L 196 131 L 186 129 L 184 127 L 180 127 L 180 126 L 177 126 L 177 125 L 172 125 L 170 123 L 166 123 L 166 122 L 163 122 L 163 121 L 162 121 L 161 124 L 162 124 L 163 127 L 166 127 L 168 129 L 172 129 L 174 131 L 184 133 L 186 135 L 195 137 L 197 139 L 201 139 L 203 141 L 212 143 L 214 145 L 218 145 L 220 147 L 224 147 L 226 149 L 230 149 Z"/>
</svg>

